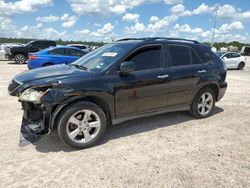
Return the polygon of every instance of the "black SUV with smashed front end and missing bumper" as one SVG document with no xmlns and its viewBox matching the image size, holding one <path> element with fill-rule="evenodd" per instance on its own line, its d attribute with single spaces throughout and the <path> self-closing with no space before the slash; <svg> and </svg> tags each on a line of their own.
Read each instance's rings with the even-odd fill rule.
<svg viewBox="0 0 250 188">
<path fill-rule="evenodd" d="M 75 148 L 96 144 L 108 124 L 172 111 L 211 115 L 225 94 L 224 63 L 197 41 L 122 39 L 70 65 L 17 75 L 9 93 L 24 109 L 21 132 L 33 142 L 56 130 Z"/>
</svg>

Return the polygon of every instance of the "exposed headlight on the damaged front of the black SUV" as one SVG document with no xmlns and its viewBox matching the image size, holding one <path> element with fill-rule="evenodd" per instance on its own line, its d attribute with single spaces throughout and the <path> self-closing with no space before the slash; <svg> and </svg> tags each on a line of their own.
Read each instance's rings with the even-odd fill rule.
<svg viewBox="0 0 250 188">
<path fill-rule="evenodd" d="M 26 89 L 24 92 L 21 93 L 19 100 L 20 101 L 28 101 L 34 103 L 40 103 L 40 98 L 43 96 L 44 91 L 37 91 L 35 89 Z"/>
</svg>

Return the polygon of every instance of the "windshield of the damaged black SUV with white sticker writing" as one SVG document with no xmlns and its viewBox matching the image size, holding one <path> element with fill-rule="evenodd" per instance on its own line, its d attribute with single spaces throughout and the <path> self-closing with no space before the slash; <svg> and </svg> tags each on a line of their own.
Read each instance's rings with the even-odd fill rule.
<svg viewBox="0 0 250 188">
<path fill-rule="evenodd" d="M 135 44 L 131 43 L 107 44 L 84 55 L 72 63 L 72 65 L 85 67 L 87 70 L 95 72 L 104 70 L 106 67 L 126 55 L 134 45 Z"/>
</svg>

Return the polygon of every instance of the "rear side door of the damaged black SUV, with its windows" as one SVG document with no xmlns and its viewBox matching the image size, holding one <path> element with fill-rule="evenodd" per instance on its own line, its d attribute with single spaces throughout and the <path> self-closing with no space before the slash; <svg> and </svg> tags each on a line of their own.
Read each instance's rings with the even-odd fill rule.
<svg viewBox="0 0 250 188">
<path fill-rule="evenodd" d="M 168 49 L 170 85 L 167 106 L 185 107 L 192 102 L 197 85 L 206 70 L 191 47 L 169 44 Z"/>
</svg>

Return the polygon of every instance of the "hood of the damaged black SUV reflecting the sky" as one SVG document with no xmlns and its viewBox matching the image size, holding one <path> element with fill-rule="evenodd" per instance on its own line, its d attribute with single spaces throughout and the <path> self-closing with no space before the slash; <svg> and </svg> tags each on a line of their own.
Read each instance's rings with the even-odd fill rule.
<svg viewBox="0 0 250 188">
<path fill-rule="evenodd" d="M 87 76 L 91 72 L 78 69 L 69 65 L 53 65 L 48 67 L 42 67 L 33 69 L 30 71 L 18 74 L 14 79 L 23 84 L 27 82 L 36 83 L 37 81 L 49 82 L 58 79 L 64 79 L 74 76 Z"/>
</svg>

